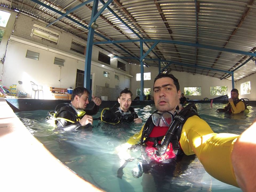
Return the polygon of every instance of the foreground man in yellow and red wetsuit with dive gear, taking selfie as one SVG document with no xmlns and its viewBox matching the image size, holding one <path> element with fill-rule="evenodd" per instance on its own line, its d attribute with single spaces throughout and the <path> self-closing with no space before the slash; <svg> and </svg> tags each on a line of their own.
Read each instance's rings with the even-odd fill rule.
<svg viewBox="0 0 256 192">
<path fill-rule="evenodd" d="M 169 167 L 170 163 L 177 161 L 181 155 L 195 154 L 207 173 L 219 181 L 238 187 L 230 159 L 239 135 L 214 133 L 207 122 L 199 117 L 194 103 L 177 113 L 181 91 L 178 79 L 169 74 L 169 71 L 158 74 L 153 89 L 157 111 L 147 119 L 139 133 L 116 148 L 121 162 L 127 162 L 131 159 L 125 153 L 129 147 L 131 150 L 137 145 L 143 147 L 145 152 L 141 156 L 147 155 L 147 158 L 138 161 L 137 167 L 132 170 L 133 176 L 141 177 L 143 173 L 150 173 L 146 174 L 147 177 L 153 176 L 155 180 L 163 174 L 163 182 L 158 183 L 157 189 L 162 185 L 170 185 L 168 189 L 171 189 L 171 183 L 164 182 L 165 173 L 173 177 L 175 175 L 172 174 L 175 169 Z M 158 173 L 159 168 L 163 168 L 165 172 Z M 122 173 L 120 170 L 119 168 L 118 176 Z"/>
</svg>

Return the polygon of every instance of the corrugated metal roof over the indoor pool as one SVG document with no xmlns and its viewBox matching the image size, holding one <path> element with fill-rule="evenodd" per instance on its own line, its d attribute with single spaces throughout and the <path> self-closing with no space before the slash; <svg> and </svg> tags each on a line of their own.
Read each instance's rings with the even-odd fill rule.
<svg viewBox="0 0 256 192">
<path fill-rule="evenodd" d="M 48 24 L 73 10 L 84 0 L 1 0 L 1 5 L 18 9 L 39 18 Z M 102 8 L 99 0 L 98 11 Z M 85 3 L 83 3 L 85 4 Z M 47 7 L 50 6 L 50 7 Z M 54 26 L 69 31 L 85 40 L 91 20 L 93 1 L 67 14 Z M 59 11 L 59 12 L 58 12 Z M 118 17 L 117 17 L 118 15 Z M 97 18 L 94 42 L 116 41 L 114 44 L 97 46 L 139 64 L 140 42 L 144 39 L 143 54 L 161 40 L 145 57 L 148 66 L 161 69 L 186 71 L 217 78 L 227 78 L 228 71 L 234 72 L 237 81 L 256 73 L 255 62 L 250 60 L 256 51 L 256 3 L 255 0 L 113 0 Z M 122 20 L 122 21 L 120 21 Z M 84 27 L 86 26 L 86 27 Z M 122 40 L 135 40 L 134 42 Z M 121 41 L 121 42 L 120 42 Z M 122 49 L 121 49 L 121 48 Z"/>
</svg>

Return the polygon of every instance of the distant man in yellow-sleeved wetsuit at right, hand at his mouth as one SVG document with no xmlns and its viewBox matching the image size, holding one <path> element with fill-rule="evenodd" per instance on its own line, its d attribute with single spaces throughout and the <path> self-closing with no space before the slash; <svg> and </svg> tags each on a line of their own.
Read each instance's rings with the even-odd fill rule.
<svg viewBox="0 0 256 192">
<path fill-rule="evenodd" d="M 246 109 L 245 102 L 238 98 L 239 93 L 237 89 L 231 90 L 231 98 L 229 98 L 229 103 L 224 109 L 217 109 L 217 112 L 227 112 L 227 113 L 243 113 Z"/>
</svg>

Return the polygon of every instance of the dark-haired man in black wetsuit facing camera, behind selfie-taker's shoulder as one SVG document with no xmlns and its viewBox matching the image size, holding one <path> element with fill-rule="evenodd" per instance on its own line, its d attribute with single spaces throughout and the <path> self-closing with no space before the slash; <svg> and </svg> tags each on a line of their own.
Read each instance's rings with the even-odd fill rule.
<svg viewBox="0 0 256 192">
<path fill-rule="evenodd" d="M 133 94 L 130 90 L 124 89 L 118 97 L 119 107 L 113 107 L 107 110 L 100 118 L 106 123 L 119 123 L 120 121 L 142 123 L 133 107 L 131 107 L 131 97 Z"/>
</svg>

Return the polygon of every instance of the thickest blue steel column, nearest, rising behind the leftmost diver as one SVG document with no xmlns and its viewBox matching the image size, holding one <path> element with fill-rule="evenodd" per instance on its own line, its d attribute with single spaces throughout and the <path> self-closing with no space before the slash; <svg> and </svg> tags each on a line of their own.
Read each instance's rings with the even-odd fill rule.
<svg viewBox="0 0 256 192">
<path fill-rule="evenodd" d="M 91 12 L 91 19 L 96 15 L 98 10 L 98 0 L 93 1 L 93 9 Z M 88 33 L 88 39 L 87 39 L 87 45 L 86 45 L 86 56 L 85 56 L 85 78 L 84 78 L 84 87 L 90 91 L 90 77 L 91 77 L 91 54 L 93 50 L 93 35 L 94 35 L 94 29 L 92 27 L 89 27 L 89 33 Z M 91 99 L 91 95 L 90 98 Z"/>
</svg>

